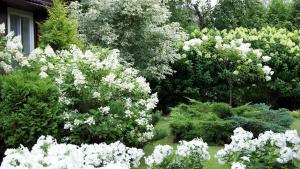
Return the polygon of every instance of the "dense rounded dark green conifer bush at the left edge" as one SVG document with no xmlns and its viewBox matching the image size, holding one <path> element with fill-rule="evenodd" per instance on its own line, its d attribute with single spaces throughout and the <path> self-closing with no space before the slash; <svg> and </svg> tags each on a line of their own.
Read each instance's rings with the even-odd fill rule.
<svg viewBox="0 0 300 169">
<path fill-rule="evenodd" d="M 41 135 L 60 139 L 59 92 L 35 73 L 0 76 L 0 150 L 31 147 Z"/>
</svg>

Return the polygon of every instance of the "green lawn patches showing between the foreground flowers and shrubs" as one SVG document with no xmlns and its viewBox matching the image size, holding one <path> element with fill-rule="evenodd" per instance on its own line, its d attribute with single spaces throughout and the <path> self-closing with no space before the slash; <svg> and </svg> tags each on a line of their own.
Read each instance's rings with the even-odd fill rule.
<svg viewBox="0 0 300 169">
<path fill-rule="evenodd" d="M 163 139 L 154 141 L 152 143 L 147 144 L 144 147 L 144 151 L 146 156 L 150 155 L 156 145 L 172 145 L 175 146 L 176 144 L 173 142 L 174 136 L 171 134 L 170 129 L 170 119 L 168 117 L 162 117 L 162 119 L 159 121 L 159 123 L 155 126 L 156 128 L 166 130 L 167 136 Z M 294 123 L 291 126 L 291 129 L 296 129 L 298 133 L 300 133 L 300 119 L 295 119 Z M 229 166 L 220 165 L 216 158 L 214 158 L 214 155 L 217 153 L 219 149 L 221 149 L 221 146 L 209 146 L 209 153 L 211 155 L 211 159 L 204 163 L 203 169 L 230 169 Z M 139 167 L 139 169 L 146 169 L 145 164 L 142 163 L 142 165 Z"/>
</svg>

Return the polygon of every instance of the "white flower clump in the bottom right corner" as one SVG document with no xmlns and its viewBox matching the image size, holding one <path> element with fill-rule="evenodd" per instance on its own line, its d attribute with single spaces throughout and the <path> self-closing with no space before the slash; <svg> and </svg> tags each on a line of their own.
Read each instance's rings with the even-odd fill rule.
<svg viewBox="0 0 300 169">
<path fill-rule="evenodd" d="M 300 137 L 296 130 L 285 133 L 266 131 L 258 138 L 243 128 L 234 130 L 232 142 L 217 152 L 220 164 L 229 163 L 232 169 L 295 168 L 300 162 Z"/>
</svg>

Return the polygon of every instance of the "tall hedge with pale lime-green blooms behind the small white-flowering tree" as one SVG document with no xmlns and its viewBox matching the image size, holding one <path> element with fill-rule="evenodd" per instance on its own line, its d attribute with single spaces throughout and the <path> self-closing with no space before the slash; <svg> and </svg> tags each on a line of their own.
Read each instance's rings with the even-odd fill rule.
<svg viewBox="0 0 300 169">
<path fill-rule="evenodd" d="M 277 104 L 278 107 L 292 107 L 298 104 L 300 91 L 298 85 L 300 76 L 298 71 L 300 66 L 299 30 L 289 31 L 275 27 L 236 28 L 223 31 L 204 29 L 195 31 L 192 36 L 202 37 L 207 34 L 221 36 L 227 42 L 242 38 L 245 43 L 250 43 L 252 48 L 260 49 L 264 56 L 271 57 L 267 64 L 274 71 L 272 81 L 250 86 L 247 92 L 249 101 L 268 102 Z M 265 60 L 267 59 L 265 58 Z M 257 92 L 258 90 L 260 92 Z M 287 99 L 289 102 L 286 102 Z"/>
</svg>

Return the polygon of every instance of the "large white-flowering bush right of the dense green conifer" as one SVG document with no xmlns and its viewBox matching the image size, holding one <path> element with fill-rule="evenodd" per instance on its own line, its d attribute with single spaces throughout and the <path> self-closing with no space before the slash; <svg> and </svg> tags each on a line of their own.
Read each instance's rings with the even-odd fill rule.
<svg viewBox="0 0 300 169">
<path fill-rule="evenodd" d="M 153 137 L 151 111 L 158 102 L 138 71 L 119 63 L 118 50 L 82 52 L 76 46 L 55 53 L 36 49 L 29 69 L 59 88 L 64 129 L 72 143 L 113 142 L 138 145 Z M 30 70 L 31 71 L 31 70 Z"/>
</svg>

